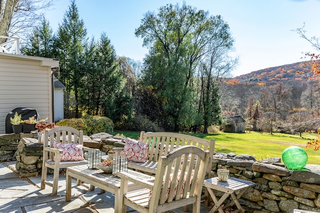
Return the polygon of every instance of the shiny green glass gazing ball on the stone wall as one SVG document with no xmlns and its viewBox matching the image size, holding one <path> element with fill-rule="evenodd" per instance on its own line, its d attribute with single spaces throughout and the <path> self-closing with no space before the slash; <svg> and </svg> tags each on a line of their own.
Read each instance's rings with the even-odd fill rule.
<svg viewBox="0 0 320 213">
<path fill-rule="evenodd" d="M 288 169 L 298 170 L 306 165 L 308 156 L 302 148 L 292 146 L 283 151 L 282 161 Z"/>
</svg>

